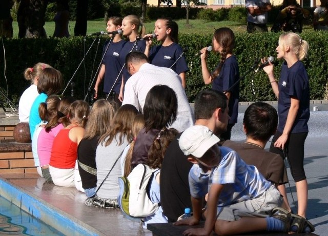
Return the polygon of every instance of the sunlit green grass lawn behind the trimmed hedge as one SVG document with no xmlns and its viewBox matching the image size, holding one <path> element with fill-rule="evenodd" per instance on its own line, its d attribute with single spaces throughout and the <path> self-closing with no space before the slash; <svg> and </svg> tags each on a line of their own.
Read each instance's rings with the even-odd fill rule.
<svg viewBox="0 0 328 236">
<path fill-rule="evenodd" d="M 239 22 L 229 22 L 229 21 L 222 21 L 222 22 L 208 22 L 202 19 L 191 19 L 189 20 L 189 26 L 186 25 L 186 19 L 179 19 L 176 21 L 179 25 L 179 33 L 213 33 L 214 29 L 220 27 L 229 27 L 234 32 L 246 32 L 246 24 L 241 24 Z M 18 24 L 17 22 L 13 22 L 13 37 L 17 37 L 18 35 Z M 71 35 L 74 35 L 74 26 L 75 21 L 71 21 L 69 24 L 69 32 Z M 152 32 L 154 29 L 154 22 L 149 22 L 145 24 L 146 31 L 148 33 Z M 54 22 L 46 22 L 45 30 L 48 36 L 52 36 L 55 28 Z M 94 21 L 88 21 L 88 28 L 87 34 L 99 32 L 101 30 L 106 31 L 106 22 L 104 19 L 97 19 Z M 270 28 L 269 28 L 270 30 Z M 304 25 L 303 31 L 313 30 L 311 25 Z"/>
</svg>

